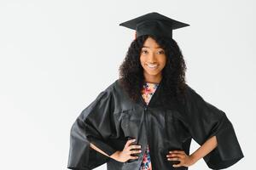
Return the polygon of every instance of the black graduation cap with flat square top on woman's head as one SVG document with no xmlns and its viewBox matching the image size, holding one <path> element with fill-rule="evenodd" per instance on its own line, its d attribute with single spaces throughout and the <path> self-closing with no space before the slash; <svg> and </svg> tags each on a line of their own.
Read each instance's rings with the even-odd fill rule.
<svg viewBox="0 0 256 170">
<path fill-rule="evenodd" d="M 172 38 L 172 30 L 189 25 L 153 12 L 125 21 L 119 24 L 119 26 L 125 26 L 132 30 L 136 30 L 136 37 L 152 35 Z"/>
</svg>

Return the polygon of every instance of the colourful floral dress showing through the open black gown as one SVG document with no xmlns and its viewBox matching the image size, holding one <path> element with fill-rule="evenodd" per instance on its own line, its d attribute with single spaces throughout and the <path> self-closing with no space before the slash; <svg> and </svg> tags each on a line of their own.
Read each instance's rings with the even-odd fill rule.
<svg viewBox="0 0 256 170">
<path fill-rule="evenodd" d="M 159 85 L 159 83 L 144 82 L 142 95 L 143 95 L 143 99 L 147 105 L 148 105 L 151 97 L 153 96 L 156 88 L 158 87 L 158 85 Z M 151 169 L 152 169 L 152 164 L 150 161 L 149 148 L 147 145 L 147 149 L 143 155 L 143 162 L 141 164 L 140 170 L 151 170 Z"/>
</svg>

